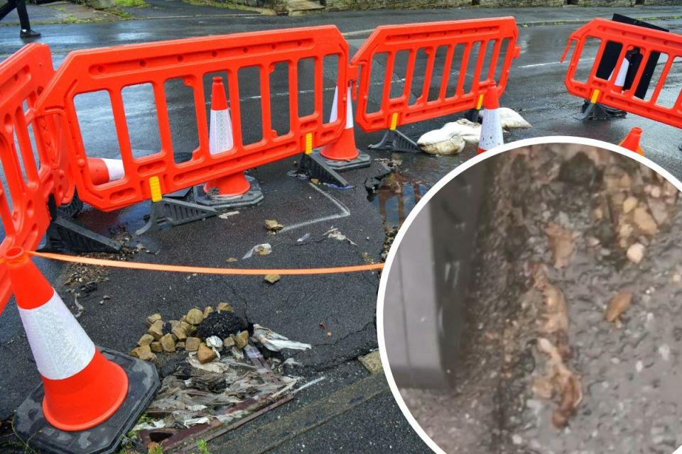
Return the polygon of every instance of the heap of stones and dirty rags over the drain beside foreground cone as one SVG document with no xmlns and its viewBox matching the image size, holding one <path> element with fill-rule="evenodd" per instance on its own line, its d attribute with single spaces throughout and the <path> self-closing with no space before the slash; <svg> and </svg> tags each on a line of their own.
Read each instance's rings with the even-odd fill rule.
<svg viewBox="0 0 682 454">
<path fill-rule="evenodd" d="M 163 377 L 144 418 L 128 434 L 127 448 L 148 450 L 163 439 L 163 452 L 172 452 L 188 438 L 208 440 L 288 402 L 300 378 L 283 372 L 293 360 L 277 353 L 311 348 L 250 325 L 226 302 L 168 322 L 152 314 L 147 324 L 131 355 L 153 362 L 157 353 L 185 350 L 187 356 Z"/>
</svg>

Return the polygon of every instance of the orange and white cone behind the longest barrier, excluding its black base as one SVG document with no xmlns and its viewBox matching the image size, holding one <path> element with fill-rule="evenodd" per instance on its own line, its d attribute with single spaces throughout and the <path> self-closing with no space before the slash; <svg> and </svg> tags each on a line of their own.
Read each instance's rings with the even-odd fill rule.
<svg viewBox="0 0 682 454">
<path fill-rule="evenodd" d="M 209 126 L 208 149 L 215 155 L 234 146 L 232 141 L 232 118 L 229 116 L 229 106 L 225 95 L 222 77 L 213 77 L 211 88 L 211 118 Z M 227 177 L 212 179 L 204 185 L 206 194 L 217 196 L 241 196 L 249 191 L 251 183 L 244 172 L 238 172 Z M 216 190 L 217 189 L 217 190 Z"/>
</svg>

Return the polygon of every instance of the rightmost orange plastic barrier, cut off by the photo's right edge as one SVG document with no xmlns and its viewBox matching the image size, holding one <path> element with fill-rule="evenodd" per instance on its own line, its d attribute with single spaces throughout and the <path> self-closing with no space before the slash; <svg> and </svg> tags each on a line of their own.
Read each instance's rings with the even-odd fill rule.
<svg viewBox="0 0 682 454">
<path fill-rule="evenodd" d="M 580 77 L 580 74 L 577 74 L 578 67 L 581 65 L 580 60 L 585 62 L 583 55 L 585 43 L 590 39 L 600 41 L 599 49 L 594 60 L 588 63 L 589 74 L 587 77 Z M 572 43 L 575 43 L 575 50 L 570 58 L 570 65 L 565 77 L 568 92 L 589 99 L 592 103 L 605 104 L 682 128 L 682 92 L 680 89 L 673 89 L 675 91 L 673 94 L 674 101 L 661 99 L 660 96 L 661 92 L 666 89 L 666 79 L 668 79 L 673 62 L 682 57 L 682 35 L 608 21 L 607 19 L 593 19 L 570 35 L 561 57 L 562 62 L 568 55 Z M 617 46 L 620 51 L 615 68 L 605 79 L 597 76 L 597 69 L 608 44 L 612 47 Z M 633 54 L 640 59 L 639 67 L 634 73 L 629 88 L 623 89 L 624 72 L 629 69 L 627 57 Z M 656 57 L 656 54 L 666 57 L 665 63 L 663 64 L 659 60 L 659 65 L 663 64 L 662 70 L 660 72 L 659 70 L 654 71 L 654 78 L 651 79 L 646 96 L 643 96 L 643 99 L 639 98 L 635 92 L 644 77 L 646 62 L 649 62 L 649 57 Z M 682 62 L 678 60 L 676 65 L 679 70 Z M 657 79 L 656 74 L 659 74 Z M 675 82 L 671 81 L 671 84 L 673 83 Z"/>
</svg>

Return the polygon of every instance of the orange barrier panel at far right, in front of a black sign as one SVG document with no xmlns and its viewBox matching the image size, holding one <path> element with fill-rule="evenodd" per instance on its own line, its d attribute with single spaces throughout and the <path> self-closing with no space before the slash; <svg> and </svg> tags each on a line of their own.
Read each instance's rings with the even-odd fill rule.
<svg viewBox="0 0 682 454">
<path fill-rule="evenodd" d="M 682 74 L 682 35 L 598 18 L 570 35 L 562 62 L 573 43 L 565 77 L 568 92 L 682 128 L 682 91 L 677 83 Z M 618 56 L 615 66 L 604 72 L 600 63 L 607 49 Z M 670 77 L 673 74 L 676 77 Z"/>
</svg>

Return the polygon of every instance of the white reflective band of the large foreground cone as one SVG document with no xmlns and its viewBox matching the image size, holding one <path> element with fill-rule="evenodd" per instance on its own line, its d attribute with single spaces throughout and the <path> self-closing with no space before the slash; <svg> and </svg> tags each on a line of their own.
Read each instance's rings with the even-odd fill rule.
<svg viewBox="0 0 682 454">
<path fill-rule="evenodd" d="M 19 315 L 43 377 L 63 380 L 92 361 L 94 343 L 56 292 L 36 309 L 20 307 Z"/>
</svg>

